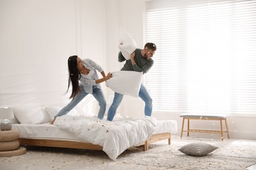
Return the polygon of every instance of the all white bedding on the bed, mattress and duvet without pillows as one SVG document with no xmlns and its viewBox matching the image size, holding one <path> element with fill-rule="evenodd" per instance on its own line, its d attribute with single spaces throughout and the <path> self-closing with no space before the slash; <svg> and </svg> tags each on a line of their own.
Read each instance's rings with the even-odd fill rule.
<svg viewBox="0 0 256 170">
<path fill-rule="evenodd" d="M 96 123 L 95 123 L 96 122 Z M 103 146 L 112 160 L 131 146 L 138 146 L 151 135 L 177 132 L 177 121 L 148 118 L 123 118 L 113 122 L 96 117 L 61 116 L 51 124 L 13 124 L 20 137 L 27 139 L 51 139 L 77 141 Z M 108 131 L 108 133 L 106 133 Z"/>
</svg>

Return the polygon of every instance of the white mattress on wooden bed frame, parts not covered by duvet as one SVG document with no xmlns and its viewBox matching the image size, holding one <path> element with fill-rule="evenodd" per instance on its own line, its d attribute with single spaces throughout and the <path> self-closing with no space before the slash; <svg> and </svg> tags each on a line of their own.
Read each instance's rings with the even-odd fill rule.
<svg viewBox="0 0 256 170">
<path fill-rule="evenodd" d="M 12 129 L 20 131 L 20 138 L 86 142 L 84 140 L 78 139 L 74 133 L 60 129 L 58 126 L 51 124 L 12 124 Z M 154 134 L 164 132 L 176 133 L 177 121 L 158 120 Z"/>
</svg>

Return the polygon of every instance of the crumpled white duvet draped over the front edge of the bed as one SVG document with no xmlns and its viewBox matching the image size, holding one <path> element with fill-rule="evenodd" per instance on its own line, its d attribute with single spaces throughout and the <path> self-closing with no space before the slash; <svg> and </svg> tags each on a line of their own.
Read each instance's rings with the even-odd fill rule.
<svg viewBox="0 0 256 170">
<path fill-rule="evenodd" d="M 113 122 L 96 117 L 64 115 L 54 125 L 74 133 L 79 139 L 103 146 L 112 160 L 131 146 L 149 139 L 156 130 L 154 117 L 122 118 Z"/>
</svg>

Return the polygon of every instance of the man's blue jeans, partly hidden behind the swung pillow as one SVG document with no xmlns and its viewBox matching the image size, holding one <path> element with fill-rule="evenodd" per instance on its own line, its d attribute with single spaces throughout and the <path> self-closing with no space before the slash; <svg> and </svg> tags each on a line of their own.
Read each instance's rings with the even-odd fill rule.
<svg viewBox="0 0 256 170">
<path fill-rule="evenodd" d="M 140 86 L 139 97 L 145 102 L 145 107 L 144 107 L 145 116 L 151 116 L 151 114 L 152 114 L 152 98 L 150 97 L 148 90 L 146 90 L 146 87 L 143 84 L 141 84 L 141 86 Z M 115 92 L 113 103 L 110 106 L 110 109 L 108 110 L 107 120 L 110 120 L 110 121 L 113 120 L 113 118 L 116 114 L 116 109 L 117 109 L 117 107 L 119 107 L 122 99 L 123 99 L 123 94 Z"/>
</svg>

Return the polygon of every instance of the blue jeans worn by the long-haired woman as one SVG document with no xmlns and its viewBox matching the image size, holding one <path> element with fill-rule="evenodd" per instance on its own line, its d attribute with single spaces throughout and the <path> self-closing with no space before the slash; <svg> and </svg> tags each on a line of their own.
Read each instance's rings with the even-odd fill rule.
<svg viewBox="0 0 256 170">
<path fill-rule="evenodd" d="M 56 118 L 57 116 L 63 116 L 64 114 L 67 114 L 70 110 L 72 110 L 87 94 L 84 90 L 83 90 L 83 86 L 80 86 L 80 92 L 77 93 L 77 95 L 75 95 L 74 99 L 72 99 L 72 101 L 70 101 L 70 103 L 68 103 L 68 105 L 66 105 L 66 107 L 64 107 L 63 109 L 60 110 L 60 112 L 58 112 L 58 114 L 56 114 L 54 116 L 54 118 Z M 104 96 L 104 93 L 102 92 L 102 90 L 100 88 L 97 88 L 97 86 L 93 86 L 93 96 L 95 97 L 96 101 L 98 101 L 98 105 L 100 105 L 100 110 L 98 110 L 98 118 L 102 119 L 104 118 L 104 114 L 106 111 L 106 99 Z"/>
</svg>

